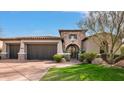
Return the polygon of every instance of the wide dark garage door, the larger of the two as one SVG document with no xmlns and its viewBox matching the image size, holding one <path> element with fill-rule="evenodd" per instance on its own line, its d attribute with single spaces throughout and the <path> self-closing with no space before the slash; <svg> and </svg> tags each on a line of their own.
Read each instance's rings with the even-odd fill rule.
<svg viewBox="0 0 124 93">
<path fill-rule="evenodd" d="M 57 53 L 56 44 L 29 44 L 27 45 L 27 59 L 52 59 Z"/>
</svg>

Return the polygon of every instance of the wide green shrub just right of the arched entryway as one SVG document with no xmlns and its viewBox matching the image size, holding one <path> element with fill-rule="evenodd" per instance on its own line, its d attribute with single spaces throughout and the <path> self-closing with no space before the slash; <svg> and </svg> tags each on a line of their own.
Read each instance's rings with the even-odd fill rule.
<svg viewBox="0 0 124 93">
<path fill-rule="evenodd" d="M 81 62 L 87 61 L 88 63 L 91 63 L 93 59 L 97 57 L 96 53 L 83 53 L 80 55 Z"/>
</svg>

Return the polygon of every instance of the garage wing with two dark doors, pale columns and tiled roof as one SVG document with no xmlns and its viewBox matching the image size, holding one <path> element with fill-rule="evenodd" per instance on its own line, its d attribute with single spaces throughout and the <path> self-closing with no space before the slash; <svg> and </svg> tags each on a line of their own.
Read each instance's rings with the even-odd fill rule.
<svg viewBox="0 0 124 93">
<path fill-rule="evenodd" d="M 2 59 L 51 60 L 53 55 L 63 53 L 60 37 L 17 37 L 3 40 Z"/>
</svg>

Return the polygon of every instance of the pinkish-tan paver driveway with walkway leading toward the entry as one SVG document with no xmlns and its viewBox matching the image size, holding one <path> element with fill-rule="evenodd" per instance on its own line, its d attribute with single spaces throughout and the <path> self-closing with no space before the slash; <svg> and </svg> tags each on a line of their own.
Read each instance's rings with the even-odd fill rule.
<svg viewBox="0 0 124 93">
<path fill-rule="evenodd" d="M 1 80 L 40 80 L 52 66 L 63 67 L 75 64 L 54 63 L 52 61 L 26 61 L 0 60 L 0 81 Z"/>
</svg>

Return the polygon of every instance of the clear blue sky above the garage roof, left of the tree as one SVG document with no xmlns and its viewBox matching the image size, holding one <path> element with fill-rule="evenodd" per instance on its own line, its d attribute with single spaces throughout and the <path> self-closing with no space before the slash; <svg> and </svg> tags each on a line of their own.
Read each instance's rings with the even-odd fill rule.
<svg viewBox="0 0 124 93">
<path fill-rule="evenodd" d="M 59 29 L 79 29 L 85 12 L 0 12 L 1 37 L 58 36 Z"/>
</svg>

